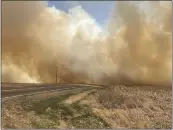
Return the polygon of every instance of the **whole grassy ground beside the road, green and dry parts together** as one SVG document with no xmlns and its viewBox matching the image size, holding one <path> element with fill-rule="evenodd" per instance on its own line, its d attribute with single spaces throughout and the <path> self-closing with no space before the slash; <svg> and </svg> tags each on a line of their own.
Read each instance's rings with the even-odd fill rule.
<svg viewBox="0 0 173 130">
<path fill-rule="evenodd" d="M 11 99 L 3 128 L 171 128 L 172 91 L 110 86 Z"/>
</svg>

